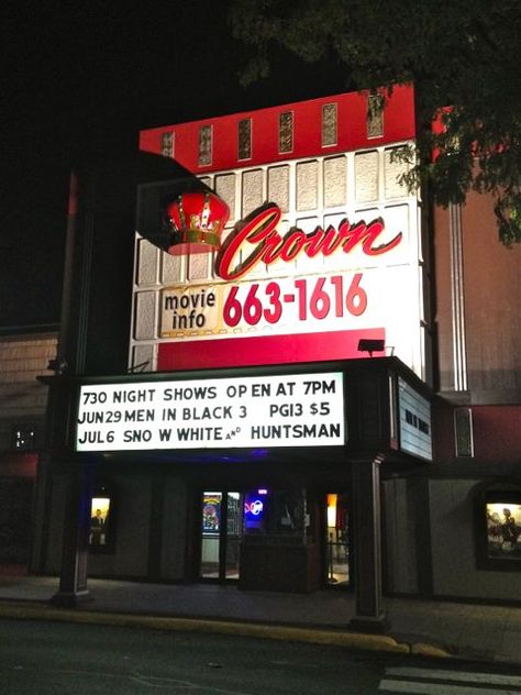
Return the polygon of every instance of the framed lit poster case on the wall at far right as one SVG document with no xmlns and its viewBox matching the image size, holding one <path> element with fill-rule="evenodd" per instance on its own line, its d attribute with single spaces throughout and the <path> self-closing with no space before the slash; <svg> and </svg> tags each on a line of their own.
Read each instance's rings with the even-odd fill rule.
<svg viewBox="0 0 521 695">
<path fill-rule="evenodd" d="M 476 515 L 479 569 L 521 570 L 521 489 L 481 492 Z"/>
</svg>

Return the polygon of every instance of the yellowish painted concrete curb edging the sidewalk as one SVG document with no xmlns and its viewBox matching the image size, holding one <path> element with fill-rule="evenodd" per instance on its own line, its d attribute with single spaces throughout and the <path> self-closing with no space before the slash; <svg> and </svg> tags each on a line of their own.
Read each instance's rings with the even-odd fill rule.
<svg viewBox="0 0 521 695">
<path fill-rule="evenodd" d="M 313 628 L 273 625 L 252 625 L 204 618 L 178 618 L 137 614 L 102 613 L 84 608 L 67 609 L 33 603 L 1 602 L 0 617 L 16 620 L 51 620 L 82 625 L 107 625 L 112 627 L 144 628 L 185 632 L 233 635 L 260 639 L 331 644 L 363 651 L 383 651 L 396 654 L 418 654 L 431 658 L 451 658 L 452 654 L 437 647 L 422 642 L 398 642 L 387 635 L 366 635 Z"/>
</svg>

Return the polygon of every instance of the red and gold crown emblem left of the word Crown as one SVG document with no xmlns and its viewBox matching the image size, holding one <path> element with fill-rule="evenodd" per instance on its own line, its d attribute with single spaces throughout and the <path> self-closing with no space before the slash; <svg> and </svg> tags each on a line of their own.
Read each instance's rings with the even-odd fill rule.
<svg viewBox="0 0 521 695">
<path fill-rule="evenodd" d="M 167 252 L 174 256 L 218 250 L 230 208 L 210 191 L 181 194 L 166 208 L 170 232 Z"/>
</svg>

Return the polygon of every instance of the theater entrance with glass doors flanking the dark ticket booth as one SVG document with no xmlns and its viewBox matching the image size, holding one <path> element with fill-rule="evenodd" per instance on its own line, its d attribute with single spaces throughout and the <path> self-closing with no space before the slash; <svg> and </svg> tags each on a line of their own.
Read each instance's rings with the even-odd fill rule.
<svg viewBox="0 0 521 695">
<path fill-rule="evenodd" d="M 345 493 L 314 497 L 300 488 L 204 490 L 199 498 L 198 576 L 240 582 L 250 589 L 350 587 L 350 512 Z"/>
</svg>

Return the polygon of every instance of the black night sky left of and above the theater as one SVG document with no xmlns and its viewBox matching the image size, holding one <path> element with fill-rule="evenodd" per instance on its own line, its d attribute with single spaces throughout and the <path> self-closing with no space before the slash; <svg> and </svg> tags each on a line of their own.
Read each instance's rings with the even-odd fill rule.
<svg viewBox="0 0 521 695">
<path fill-rule="evenodd" d="M 277 54 L 269 78 L 241 87 L 250 48 L 226 5 L 8 2 L 0 328 L 59 320 L 68 172 L 93 142 L 134 146 L 141 128 L 346 89 L 331 65 Z"/>
</svg>

